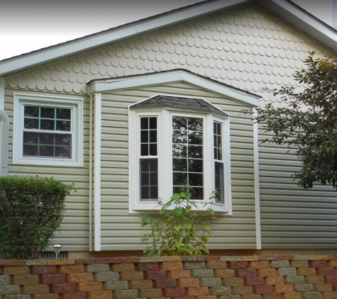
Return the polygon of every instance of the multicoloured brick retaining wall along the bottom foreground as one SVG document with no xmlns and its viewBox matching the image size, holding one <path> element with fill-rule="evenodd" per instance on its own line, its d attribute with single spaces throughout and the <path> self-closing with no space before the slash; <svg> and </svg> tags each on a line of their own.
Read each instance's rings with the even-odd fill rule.
<svg viewBox="0 0 337 299">
<path fill-rule="evenodd" d="M 333 299 L 337 255 L 0 260 L 0 299 Z"/>
</svg>

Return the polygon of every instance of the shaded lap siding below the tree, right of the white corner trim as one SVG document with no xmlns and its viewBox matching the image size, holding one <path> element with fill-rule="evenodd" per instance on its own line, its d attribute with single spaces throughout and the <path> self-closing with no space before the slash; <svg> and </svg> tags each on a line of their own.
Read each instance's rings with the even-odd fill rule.
<svg viewBox="0 0 337 299">
<path fill-rule="evenodd" d="M 259 154 L 263 249 L 336 249 L 336 191 L 299 188 L 289 177 L 301 164 L 287 148 L 265 143 Z"/>
</svg>

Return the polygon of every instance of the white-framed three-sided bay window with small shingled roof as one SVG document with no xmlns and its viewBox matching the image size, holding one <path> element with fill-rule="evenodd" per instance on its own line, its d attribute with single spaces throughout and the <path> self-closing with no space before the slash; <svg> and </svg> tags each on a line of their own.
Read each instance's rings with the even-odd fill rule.
<svg viewBox="0 0 337 299">
<path fill-rule="evenodd" d="M 186 108 L 185 108 L 186 106 Z M 229 117 L 202 99 L 155 96 L 129 107 L 129 212 L 158 208 L 184 184 L 202 210 L 231 213 Z"/>
</svg>

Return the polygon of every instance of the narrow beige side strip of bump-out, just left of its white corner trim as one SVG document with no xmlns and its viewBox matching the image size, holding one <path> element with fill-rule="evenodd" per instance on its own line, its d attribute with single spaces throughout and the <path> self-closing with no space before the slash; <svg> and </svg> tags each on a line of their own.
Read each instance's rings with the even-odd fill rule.
<svg viewBox="0 0 337 299">
<path fill-rule="evenodd" d="M 89 120 L 89 252 L 92 252 L 92 94 L 90 95 Z"/>
</svg>

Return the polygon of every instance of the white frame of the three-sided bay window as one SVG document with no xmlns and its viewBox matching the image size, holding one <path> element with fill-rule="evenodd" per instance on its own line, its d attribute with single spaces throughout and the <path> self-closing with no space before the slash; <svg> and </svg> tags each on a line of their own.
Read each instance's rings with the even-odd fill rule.
<svg viewBox="0 0 337 299">
<path fill-rule="evenodd" d="M 179 108 L 141 108 L 129 107 L 129 213 L 139 214 L 144 211 L 159 210 L 158 203 L 140 201 L 140 118 L 158 118 L 158 198 L 163 201 L 172 196 L 172 116 L 203 118 L 204 131 L 204 200 L 197 201 L 199 210 L 205 210 L 204 203 L 215 189 L 214 179 L 214 121 L 221 123 L 223 149 L 223 186 L 224 201 L 213 205 L 216 212 L 231 215 L 231 154 L 229 116 L 219 116 L 200 111 L 186 111 Z M 167 142 L 171 140 L 171 142 Z"/>
</svg>

